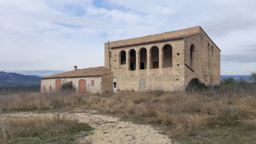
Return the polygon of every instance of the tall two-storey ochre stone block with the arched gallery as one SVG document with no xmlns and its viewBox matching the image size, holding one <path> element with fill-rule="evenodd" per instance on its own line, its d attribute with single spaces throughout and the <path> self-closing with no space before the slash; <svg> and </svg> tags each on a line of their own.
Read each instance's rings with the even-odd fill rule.
<svg viewBox="0 0 256 144">
<path fill-rule="evenodd" d="M 122 51 L 125 64 L 121 64 Z M 172 91 L 184 89 L 194 77 L 208 85 L 218 84 L 220 50 L 198 26 L 105 43 L 105 67 L 111 67 L 120 91 Z"/>
</svg>

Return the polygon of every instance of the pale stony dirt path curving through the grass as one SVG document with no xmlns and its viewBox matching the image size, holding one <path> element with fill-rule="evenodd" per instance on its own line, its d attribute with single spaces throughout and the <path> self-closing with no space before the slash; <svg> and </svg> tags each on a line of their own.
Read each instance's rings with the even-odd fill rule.
<svg viewBox="0 0 256 144">
<path fill-rule="evenodd" d="M 95 143 L 95 144 L 120 144 L 120 143 L 140 143 L 140 144 L 170 144 L 176 143 L 168 138 L 159 128 L 152 125 L 134 124 L 130 121 L 123 121 L 120 118 L 111 115 L 95 114 L 93 110 L 76 110 L 74 113 L 68 113 L 67 117 L 74 117 L 79 122 L 89 123 L 95 128 L 92 134 L 81 137 L 77 142 L 80 143 Z M 3 115 L 7 116 L 26 116 L 34 117 L 37 113 L 11 113 Z"/>
</svg>

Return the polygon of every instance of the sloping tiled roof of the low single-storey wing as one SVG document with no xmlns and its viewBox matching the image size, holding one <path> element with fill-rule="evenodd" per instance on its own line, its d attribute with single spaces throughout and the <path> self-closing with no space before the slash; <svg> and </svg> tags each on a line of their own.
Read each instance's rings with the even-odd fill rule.
<svg viewBox="0 0 256 144">
<path fill-rule="evenodd" d="M 108 67 L 90 67 L 84 69 L 77 69 L 69 72 L 63 72 L 52 76 L 42 77 L 48 78 L 68 78 L 68 77 L 98 77 L 111 73 L 111 68 Z"/>
</svg>

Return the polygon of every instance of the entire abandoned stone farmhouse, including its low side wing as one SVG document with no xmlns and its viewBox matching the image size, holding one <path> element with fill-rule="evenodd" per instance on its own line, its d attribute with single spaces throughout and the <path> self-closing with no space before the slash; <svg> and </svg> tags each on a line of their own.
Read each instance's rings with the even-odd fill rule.
<svg viewBox="0 0 256 144">
<path fill-rule="evenodd" d="M 221 50 L 200 27 L 105 43 L 104 67 L 41 78 L 41 91 L 71 83 L 78 92 L 184 89 L 194 77 L 220 83 Z"/>
</svg>

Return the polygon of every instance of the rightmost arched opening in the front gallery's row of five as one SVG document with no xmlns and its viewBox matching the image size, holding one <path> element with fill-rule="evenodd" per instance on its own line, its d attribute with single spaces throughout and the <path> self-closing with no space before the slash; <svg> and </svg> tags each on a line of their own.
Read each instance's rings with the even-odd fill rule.
<svg viewBox="0 0 256 144">
<path fill-rule="evenodd" d="M 162 48 L 163 51 L 163 68 L 173 67 L 173 47 L 166 44 Z"/>
</svg>

